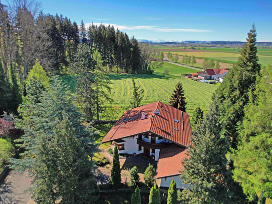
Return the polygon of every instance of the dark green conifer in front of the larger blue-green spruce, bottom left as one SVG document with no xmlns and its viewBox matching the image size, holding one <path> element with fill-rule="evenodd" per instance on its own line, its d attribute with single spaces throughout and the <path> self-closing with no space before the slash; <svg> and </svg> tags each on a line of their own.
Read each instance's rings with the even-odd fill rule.
<svg viewBox="0 0 272 204">
<path fill-rule="evenodd" d="M 35 200 L 54 197 L 54 201 L 65 203 L 95 202 L 93 164 L 67 116 L 57 122 L 52 136 L 42 134 L 38 138 L 43 145 L 37 151 L 41 165 L 36 171 Z"/>
</svg>

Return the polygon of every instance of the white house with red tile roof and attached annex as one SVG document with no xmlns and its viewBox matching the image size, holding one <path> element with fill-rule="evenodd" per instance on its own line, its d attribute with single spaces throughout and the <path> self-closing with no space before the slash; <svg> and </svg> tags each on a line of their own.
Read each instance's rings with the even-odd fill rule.
<svg viewBox="0 0 272 204">
<path fill-rule="evenodd" d="M 102 140 L 117 145 L 119 153 L 145 154 L 158 161 L 156 182 L 171 180 L 183 189 L 181 160 L 192 136 L 189 115 L 160 101 L 127 110 Z"/>
</svg>

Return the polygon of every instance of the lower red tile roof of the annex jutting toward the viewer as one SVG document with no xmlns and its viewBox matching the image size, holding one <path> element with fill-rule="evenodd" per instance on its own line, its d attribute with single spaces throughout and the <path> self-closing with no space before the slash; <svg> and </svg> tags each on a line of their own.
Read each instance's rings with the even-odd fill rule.
<svg viewBox="0 0 272 204">
<path fill-rule="evenodd" d="M 181 161 L 188 157 L 185 153 L 186 149 L 176 144 L 161 149 L 156 178 L 180 174 L 181 169 L 183 169 Z"/>
</svg>

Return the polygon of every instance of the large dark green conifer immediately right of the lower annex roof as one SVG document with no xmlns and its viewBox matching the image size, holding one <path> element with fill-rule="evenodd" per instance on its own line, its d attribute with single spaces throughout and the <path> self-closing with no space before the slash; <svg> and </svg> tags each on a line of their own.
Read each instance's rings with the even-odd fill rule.
<svg viewBox="0 0 272 204">
<path fill-rule="evenodd" d="M 229 189 L 226 177 L 228 139 L 221 137 L 218 103 L 210 107 L 191 137 L 188 158 L 182 161 L 181 179 L 189 186 L 182 191 L 186 203 L 226 203 Z"/>
</svg>

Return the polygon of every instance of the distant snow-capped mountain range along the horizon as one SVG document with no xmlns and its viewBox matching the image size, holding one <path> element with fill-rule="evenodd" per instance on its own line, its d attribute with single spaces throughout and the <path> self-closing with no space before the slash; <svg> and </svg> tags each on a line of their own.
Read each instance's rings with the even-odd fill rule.
<svg viewBox="0 0 272 204">
<path fill-rule="evenodd" d="M 243 45 L 246 42 L 241 41 L 174 41 L 174 40 L 146 40 L 139 39 L 140 43 L 158 43 L 158 44 L 211 44 L 211 45 Z M 259 46 L 272 46 L 272 42 L 257 42 Z"/>
</svg>

